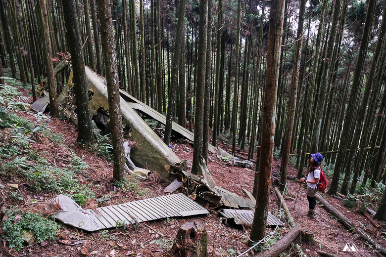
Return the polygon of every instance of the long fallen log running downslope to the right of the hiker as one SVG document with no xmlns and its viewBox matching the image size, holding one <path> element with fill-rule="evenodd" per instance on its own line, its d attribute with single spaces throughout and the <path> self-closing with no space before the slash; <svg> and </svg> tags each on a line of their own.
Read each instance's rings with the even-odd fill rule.
<svg viewBox="0 0 386 257">
<path fill-rule="evenodd" d="M 316 200 L 323 204 L 324 208 L 331 214 L 334 214 L 339 221 L 348 229 L 355 229 L 354 231 L 360 235 L 364 240 L 372 244 L 380 253 L 386 256 L 386 249 L 383 248 L 380 244 L 377 243 L 374 239 L 372 239 L 365 231 L 360 227 L 355 227 L 351 220 L 349 220 L 345 215 L 339 212 L 334 206 L 332 206 L 326 199 L 324 199 L 319 193 L 315 195 Z"/>
</svg>

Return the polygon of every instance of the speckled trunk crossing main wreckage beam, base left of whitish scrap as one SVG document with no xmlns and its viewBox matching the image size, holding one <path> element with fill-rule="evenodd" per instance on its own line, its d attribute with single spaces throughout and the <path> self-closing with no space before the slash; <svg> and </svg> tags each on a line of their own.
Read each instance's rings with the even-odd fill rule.
<svg viewBox="0 0 386 257">
<path fill-rule="evenodd" d="M 106 66 L 108 109 L 110 114 L 111 139 L 113 144 L 113 179 L 123 180 L 125 177 L 125 151 L 123 146 L 123 127 L 119 98 L 117 57 L 115 52 L 115 39 L 110 0 L 98 0 L 98 12 L 100 28 L 102 30 L 101 39 L 104 47 L 104 61 Z"/>
</svg>

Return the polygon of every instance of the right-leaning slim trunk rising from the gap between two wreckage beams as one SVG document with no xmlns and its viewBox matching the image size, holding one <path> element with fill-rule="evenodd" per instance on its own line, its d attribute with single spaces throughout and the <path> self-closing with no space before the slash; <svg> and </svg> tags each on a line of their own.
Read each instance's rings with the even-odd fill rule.
<svg viewBox="0 0 386 257">
<path fill-rule="evenodd" d="M 185 0 L 180 0 L 178 6 L 178 18 L 177 18 L 177 28 L 176 28 L 176 41 L 174 45 L 173 52 L 173 66 L 172 66 L 172 78 L 169 88 L 169 101 L 168 101 L 168 109 L 166 112 L 166 125 L 165 125 L 165 133 L 163 137 L 163 141 L 165 144 L 170 144 L 170 136 L 172 134 L 172 125 L 173 125 L 173 117 L 174 110 L 176 106 L 176 90 L 178 84 L 178 69 L 183 67 L 179 67 L 180 65 L 180 57 L 181 57 L 181 46 L 182 41 L 184 40 L 183 26 L 185 25 Z M 195 130 L 195 129 L 194 129 Z M 195 145 L 194 145 L 195 148 Z"/>
</svg>

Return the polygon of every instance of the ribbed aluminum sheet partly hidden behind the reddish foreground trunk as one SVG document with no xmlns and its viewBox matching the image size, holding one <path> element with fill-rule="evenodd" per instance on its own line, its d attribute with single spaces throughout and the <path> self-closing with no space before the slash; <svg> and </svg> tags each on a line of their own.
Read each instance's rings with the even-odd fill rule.
<svg viewBox="0 0 386 257">
<path fill-rule="evenodd" d="M 231 210 L 231 209 L 220 209 L 219 213 L 226 217 L 226 218 L 234 218 L 235 223 L 241 225 L 241 220 L 248 223 L 252 224 L 253 223 L 253 215 L 254 212 L 250 210 Z M 284 226 L 284 223 L 282 221 L 279 221 L 277 217 L 272 215 L 270 212 L 268 212 L 268 217 L 267 217 L 267 226 L 268 227 L 276 227 L 276 225 L 279 226 Z"/>
</svg>

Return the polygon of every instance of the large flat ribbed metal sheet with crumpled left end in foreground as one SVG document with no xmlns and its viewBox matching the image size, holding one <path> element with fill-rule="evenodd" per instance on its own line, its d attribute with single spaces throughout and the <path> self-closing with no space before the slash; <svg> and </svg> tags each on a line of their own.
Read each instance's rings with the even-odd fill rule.
<svg viewBox="0 0 386 257">
<path fill-rule="evenodd" d="M 58 195 L 56 199 L 61 203 L 64 212 L 57 212 L 54 214 L 55 218 L 65 224 L 87 231 L 167 217 L 209 214 L 208 210 L 181 193 L 101 207 L 97 208 L 97 213 L 93 210 L 83 210 L 65 195 Z"/>
</svg>

